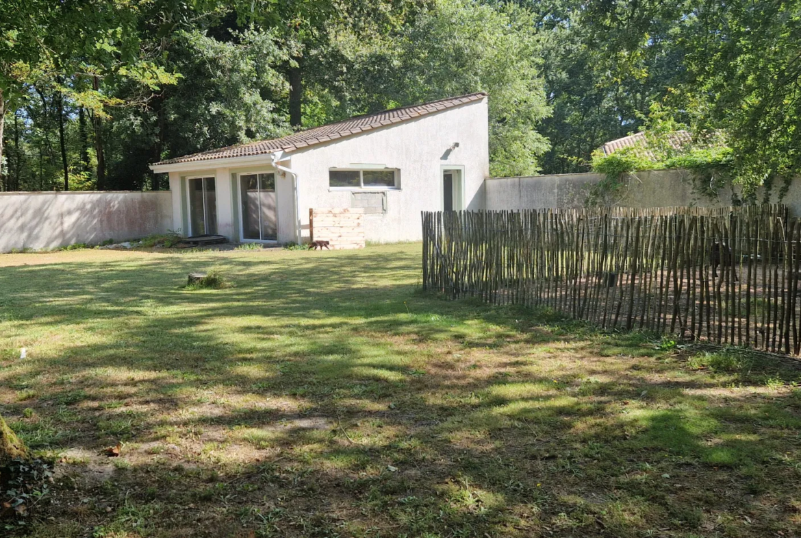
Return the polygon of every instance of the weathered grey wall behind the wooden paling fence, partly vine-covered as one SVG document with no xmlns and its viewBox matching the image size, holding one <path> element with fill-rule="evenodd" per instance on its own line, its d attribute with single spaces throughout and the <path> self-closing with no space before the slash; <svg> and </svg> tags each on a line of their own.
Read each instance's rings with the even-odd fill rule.
<svg viewBox="0 0 801 538">
<path fill-rule="evenodd" d="M 590 188 L 604 179 L 603 174 L 557 174 L 553 176 L 500 177 L 485 181 L 486 208 L 501 209 L 571 209 L 582 208 Z M 801 178 L 790 184 L 787 195 L 779 200 L 782 185 L 777 181 L 770 202 L 790 208 L 792 216 L 801 216 Z M 763 192 L 757 192 L 762 202 Z M 666 208 L 675 206 L 725 207 L 739 200 L 739 189 L 718 189 L 706 196 L 687 170 L 650 170 L 635 172 L 626 180 L 612 205 L 630 208 Z"/>
</svg>

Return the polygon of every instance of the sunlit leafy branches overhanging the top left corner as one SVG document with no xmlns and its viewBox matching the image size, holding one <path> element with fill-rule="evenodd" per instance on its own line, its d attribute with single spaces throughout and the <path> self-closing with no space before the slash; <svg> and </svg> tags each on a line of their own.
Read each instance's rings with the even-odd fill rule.
<svg viewBox="0 0 801 538">
<path fill-rule="evenodd" d="M 99 88 L 68 83 L 86 76 L 134 80 L 148 88 L 175 83 L 141 47 L 140 11 L 126 0 L 4 0 L 0 18 L 0 162 L 6 111 L 38 84 L 103 115 L 118 103 Z M 2 170 L 0 170 L 2 172 Z"/>
</svg>

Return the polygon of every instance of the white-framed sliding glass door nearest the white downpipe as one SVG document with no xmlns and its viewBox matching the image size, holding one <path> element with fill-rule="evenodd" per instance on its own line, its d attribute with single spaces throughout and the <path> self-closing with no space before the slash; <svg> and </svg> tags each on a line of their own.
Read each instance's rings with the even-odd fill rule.
<svg viewBox="0 0 801 538">
<path fill-rule="evenodd" d="M 249 241 L 276 241 L 276 175 L 272 172 L 239 176 L 242 204 L 242 238 Z"/>
</svg>

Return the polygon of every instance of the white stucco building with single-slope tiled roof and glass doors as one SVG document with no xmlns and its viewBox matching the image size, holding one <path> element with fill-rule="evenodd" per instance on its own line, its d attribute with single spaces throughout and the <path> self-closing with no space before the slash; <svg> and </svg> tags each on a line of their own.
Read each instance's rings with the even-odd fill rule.
<svg viewBox="0 0 801 538">
<path fill-rule="evenodd" d="M 165 160 L 173 225 L 185 236 L 308 241 L 310 208 L 364 208 L 368 241 L 421 239 L 421 211 L 482 209 L 487 95 L 357 116 Z"/>
</svg>

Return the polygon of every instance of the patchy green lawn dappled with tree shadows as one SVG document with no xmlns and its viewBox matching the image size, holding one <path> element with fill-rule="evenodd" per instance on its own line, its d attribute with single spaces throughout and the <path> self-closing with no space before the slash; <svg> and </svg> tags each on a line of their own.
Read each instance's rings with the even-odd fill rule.
<svg viewBox="0 0 801 538">
<path fill-rule="evenodd" d="M 0 414 L 60 462 L 25 532 L 798 532 L 793 370 L 419 281 L 420 245 L 0 256 Z"/>
</svg>

